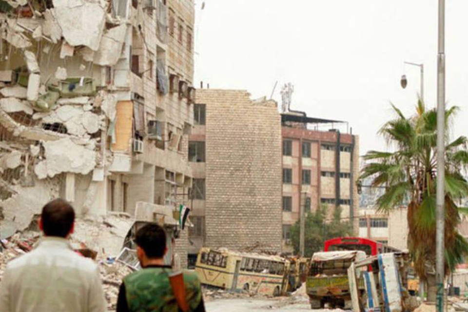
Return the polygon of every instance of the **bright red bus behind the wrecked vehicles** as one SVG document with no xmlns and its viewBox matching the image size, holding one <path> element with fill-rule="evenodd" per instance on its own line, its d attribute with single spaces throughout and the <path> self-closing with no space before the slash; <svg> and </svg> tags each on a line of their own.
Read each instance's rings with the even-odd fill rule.
<svg viewBox="0 0 468 312">
<path fill-rule="evenodd" d="M 363 237 L 336 237 L 325 241 L 324 251 L 361 250 L 368 255 L 398 253 L 401 250 Z"/>
</svg>

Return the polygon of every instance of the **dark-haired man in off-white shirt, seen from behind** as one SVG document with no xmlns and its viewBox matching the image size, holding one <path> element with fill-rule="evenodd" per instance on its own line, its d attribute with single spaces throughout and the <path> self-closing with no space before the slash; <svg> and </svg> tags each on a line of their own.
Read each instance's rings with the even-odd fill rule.
<svg viewBox="0 0 468 312">
<path fill-rule="evenodd" d="M 1 312 L 105 312 L 98 266 L 68 242 L 75 212 L 62 199 L 42 208 L 44 237 L 28 254 L 10 261 L 0 282 Z"/>
</svg>

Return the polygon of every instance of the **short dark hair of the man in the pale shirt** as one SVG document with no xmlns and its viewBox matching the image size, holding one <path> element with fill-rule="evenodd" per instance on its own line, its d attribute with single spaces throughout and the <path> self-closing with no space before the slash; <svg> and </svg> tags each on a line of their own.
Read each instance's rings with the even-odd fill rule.
<svg viewBox="0 0 468 312">
<path fill-rule="evenodd" d="M 67 201 L 59 198 L 47 203 L 40 217 L 45 235 L 66 237 L 75 221 L 75 211 Z"/>
</svg>

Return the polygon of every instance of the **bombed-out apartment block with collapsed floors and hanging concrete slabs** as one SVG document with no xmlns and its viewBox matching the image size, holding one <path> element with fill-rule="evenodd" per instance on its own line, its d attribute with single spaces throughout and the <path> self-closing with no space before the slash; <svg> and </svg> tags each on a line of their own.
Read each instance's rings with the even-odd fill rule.
<svg viewBox="0 0 468 312">
<path fill-rule="evenodd" d="M 193 25 L 192 0 L 1 1 L 0 236 L 59 196 L 147 220 L 188 203 Z"/>
</svg>

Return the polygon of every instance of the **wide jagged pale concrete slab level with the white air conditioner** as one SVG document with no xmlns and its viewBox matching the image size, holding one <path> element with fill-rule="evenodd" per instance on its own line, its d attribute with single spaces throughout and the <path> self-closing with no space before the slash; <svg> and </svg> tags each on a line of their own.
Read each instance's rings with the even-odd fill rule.
<svg viewBox="0 0 468 312">
<path fill-rule="evenodd" d="M 68 137 L 43 142 L 42 146 L 45 160 L 34 168 L 39 179 L 54 177 L 62 172 L 86 175 L 96 167 L 96 152 L 75 144 Z"/>
</svg>

